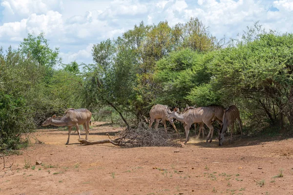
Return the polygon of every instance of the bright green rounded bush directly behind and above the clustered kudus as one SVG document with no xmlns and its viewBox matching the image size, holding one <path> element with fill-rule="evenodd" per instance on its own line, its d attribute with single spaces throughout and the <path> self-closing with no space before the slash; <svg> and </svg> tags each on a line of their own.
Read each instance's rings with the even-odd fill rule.
<svg viewBox="0 0 293 195">
<path fill-rule="evenodd" d="M 205 83 L 208 83 L 211 77 L 207 65 L 212 56 L 213 53 L 205 55 L 184 49 L 172 52 L 168 57 L 159 60 L 154 75 L 155 81 L 161 86 L 157 101 L 176 106 L 184 106 L 186 103 L 207 105 L 197 98 L 202 94 L 209 94 L 210 90 L 203 87 L 209 87 Z M 215 103 L 215 98 L 203 101 Z"/>
</svg>

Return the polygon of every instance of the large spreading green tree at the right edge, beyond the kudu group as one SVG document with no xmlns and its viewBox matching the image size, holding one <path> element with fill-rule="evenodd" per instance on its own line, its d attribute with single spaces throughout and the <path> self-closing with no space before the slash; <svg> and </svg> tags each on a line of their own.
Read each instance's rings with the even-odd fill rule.
<svg viewBox="0 0 293 195">
<path fill-rule="evenodd" d="M 292 34 L 270 33 L 221 50 L 210 67 L 213 90 L 222 101 L 240 100 L 255 123 L 263 119 L 274 124 L 285 115 L 292 125 L 292 44 Z"/>
</svg>

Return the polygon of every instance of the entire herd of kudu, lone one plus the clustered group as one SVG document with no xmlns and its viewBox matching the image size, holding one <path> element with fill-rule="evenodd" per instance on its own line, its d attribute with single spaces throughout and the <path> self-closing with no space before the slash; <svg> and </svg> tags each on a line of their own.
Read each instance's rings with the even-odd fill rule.
<svg viewBox="0 0 293 195">
<path fill-rule="evenodd" d="M 69 143 L 69 138 L 71 134 L 72 127 L 76 127 L 78 132 L 79 138 L 81 138 L 79 125 L 84 126 L 85 130 L 85 139 L 88 138 L 89 132 L 89 125 L 91 123 L 91 112 L 85 108 L 81 109 L 68 109 L 64 116 L 61 118 L 56 118 L 56 115 L 53 117 L 47 118 L 43 123 L 42 126 L 47 125 L 55 125 L 55 126 L 67 126 L 68 127 L 68 138 L 66 144 Z M 159 122 L 162 119 L 163 124 L 165 126 L 165 131 L 167 132 L 167 124 L 166 120 L 168 120 L 171 125 L 176 130 L 178 136 L 179 132 L 174 125 L 173 118 L 176 118 L 179 121 L 184 123 L 184 129 L 186 134 L 185 143 L 188 142 L 188 134 L 192 124 L 196 125 L 199 124 L 199 133 L 202 131 L 202 135 L 204 137 L 204 126 L 205 124 L 209 127 L 209 134 L 207 137 L 207 142 L 211 142 L 214 128 L 212 126 L 213 121 L 217 121 L 221 125 L 221 130 L 218 130 L 219 133 L 219 145 L 221 146 L 224 141 L 224 135 L 227 131 L 227 127 L 231 125 L 231 138 L 232 140 L 232 133 L 234 128 L 234 121 L 237 120 L 240 127 L 240 132 L 242 135 L 242 122 L 239 115 L 239 110 L 236 106 L 230 106 L 229 108 L 225 109 L 223 106 L 219 105 L 209 105 L 206 107 L 191 107 L 188 106 L 184 109 L 182 113 L 179 113 L 178 108 L 175 108 L 173 112 L 170 109 L 161 104 L 154 105 L 151 110 L 149 111 L 150 116 L 150 123 L 148 128 L 151 127 L 154 120 L 156 120 L 155 128 L 158 128 Z M 196 135 L 196 132 L 195 132 Z"/>
</svg>

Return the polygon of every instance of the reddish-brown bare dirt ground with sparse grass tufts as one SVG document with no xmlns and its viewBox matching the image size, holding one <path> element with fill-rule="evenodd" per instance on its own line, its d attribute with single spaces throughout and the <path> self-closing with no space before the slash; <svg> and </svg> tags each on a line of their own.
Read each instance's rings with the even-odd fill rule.
<svg viewBox="0 0 293 195">
<path fill-rule="evenodd" d="M 95 122 L 90 140 L 121 130 Z M 67 129 L 43 129 L 22 155 L 6 156 L 0 171 L 3 195 L 291 195 L 293 139 L 243 138 L 219 147 L 194 141 L 182 148 L 82 146 Z M 82 131 L 82 137 L 85 137 Z M 229 136 L 227 136 L 229 137 Z M 182 137 L 182 141 L 184 138 Z M 179 152 L 174 152 L 179 150 Z M 35 165 L 24 168 L 24 158 Z M 0 159 L 0 169 L 3 159 Z M 282 172 L 283 177 L 277 177 Z"/>
</svg>

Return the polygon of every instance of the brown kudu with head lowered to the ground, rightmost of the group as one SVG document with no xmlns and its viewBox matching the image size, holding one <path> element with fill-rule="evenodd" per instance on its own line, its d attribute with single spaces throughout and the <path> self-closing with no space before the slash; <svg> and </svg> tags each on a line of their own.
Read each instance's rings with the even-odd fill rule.
<svg viewBox="0 0 293 195">
<path fill-rule="evenodd" d="M 234 128 L 234 121 L 237 120 L 240 128 L 240 133 L 242 135 L 242 121 L 240 119 L 240 113 L 236 106 L 230 106 L 224 111 L 223 115 L 223 127 L 219 136 L 219 146 L 223 144 L 224 141 L 224 135 L 227 131 L 227 128 L 229 125 L 231 125 L 231 138 L 230 142 L 232 141 L 232 133 Z"/>
</svg>

